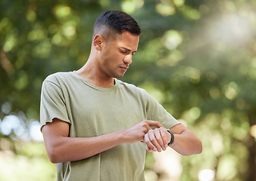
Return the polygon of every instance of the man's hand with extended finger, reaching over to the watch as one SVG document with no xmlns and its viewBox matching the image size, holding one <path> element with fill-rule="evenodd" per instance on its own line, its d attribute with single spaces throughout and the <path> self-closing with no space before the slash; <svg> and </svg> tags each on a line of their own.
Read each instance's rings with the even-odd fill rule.
<svg viewBox="0 0 256 181">
<path fill-rule="evenodd" d="M 163 125 L 158 121 L 141 121 L 139 124 L 124 130 L 125 143 L 144 142 L 144 136 L 148 133 L 148 130 L 152 130 L 151 127 L 163 127 Z"/>
</svg>

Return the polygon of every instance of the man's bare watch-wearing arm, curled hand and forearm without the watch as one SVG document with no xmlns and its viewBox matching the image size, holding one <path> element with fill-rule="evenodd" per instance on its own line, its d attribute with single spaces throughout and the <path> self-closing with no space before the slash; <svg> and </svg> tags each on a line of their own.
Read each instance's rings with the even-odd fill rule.
<svg viewBox="0 0 256 181">
<path fill-rule="evenodd" d="M 184 127 L 182 124 L 176 124 L 170 128 L 173 132 L 174 141 L 170 145 L 172 149 L 181 155 L 194 155 L 202 152 L 202 143 L 191 130 Z M 147 144 L 147 152 L 161 152 L 167 148 L 170 143 L 171 134 L 164 127 L 156 128 L 148 131 L 144 137 L 144 143 Z"/>
</svg>

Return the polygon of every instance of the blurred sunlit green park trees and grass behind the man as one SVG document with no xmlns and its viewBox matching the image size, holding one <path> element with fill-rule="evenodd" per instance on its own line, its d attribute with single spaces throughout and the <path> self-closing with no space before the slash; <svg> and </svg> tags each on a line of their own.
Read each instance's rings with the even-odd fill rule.
<svg viewBox="0 0 256 181">
<path fill-rule="evenodd" d="M 201 155 L 150 153 L 155 180 L 256 180 L 256 1 L 0 1 L 0 180 L 55 180 L 39 131 L 44 78 L 86 62 L 95 19 L 142 28 L 123 81 L 144 88 L 203 142 Z"/>
</svg>

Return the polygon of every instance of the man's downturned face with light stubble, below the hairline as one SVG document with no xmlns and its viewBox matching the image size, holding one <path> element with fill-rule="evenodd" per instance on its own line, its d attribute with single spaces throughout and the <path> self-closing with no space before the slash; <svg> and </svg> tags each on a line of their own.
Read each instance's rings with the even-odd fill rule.
<svg viewBox="0 0 256 181">
<path fill-rule="evenodd" d="M 139 35 L 123 32 L 114 40 L 105 44 L 101 49 L 99 68 L 106 77 L 121 78 L 132 63 L 133 54 L 139 44 Z"/>
</svg>

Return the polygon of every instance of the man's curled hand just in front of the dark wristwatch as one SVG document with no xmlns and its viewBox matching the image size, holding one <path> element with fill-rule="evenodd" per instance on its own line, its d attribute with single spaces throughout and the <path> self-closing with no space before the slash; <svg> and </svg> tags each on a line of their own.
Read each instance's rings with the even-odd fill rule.
<svg viewBox="0 0 256 181">
<path fill-rule="evenodd" d="M 171 136 L 167 132 L 165 127 L 159 127 L 155 130 L 148 130 L 145 134 L 144 143 L 148 146 L 147 152 L 161 152 L 166 150 L 168 143 L 170 142 Z"/>
</svg>

